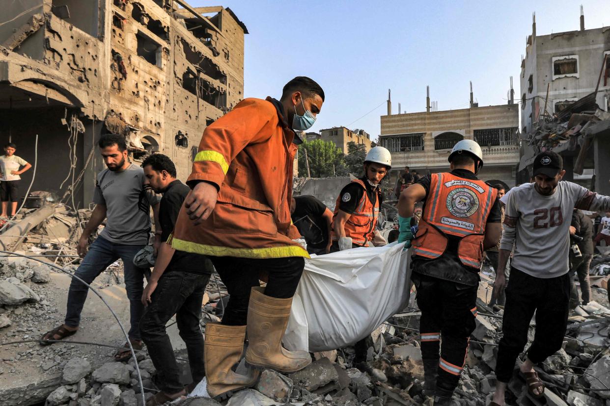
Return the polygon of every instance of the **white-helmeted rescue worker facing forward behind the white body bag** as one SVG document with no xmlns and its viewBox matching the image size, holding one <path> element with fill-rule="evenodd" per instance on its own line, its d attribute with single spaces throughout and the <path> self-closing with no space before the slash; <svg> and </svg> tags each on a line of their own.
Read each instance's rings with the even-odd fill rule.
<svg viewBox="0 0 610 406">
<path fill-rule="evenodd" d="M 366 247 L 385 240 L 376 229 L 382 194 L 379 183 L 392 168 L 392 156 L 384 147 L 374 147 L 364 159 L 364 176 L 343 187 L 332 217 L 331 253 Z"/>
</svg>

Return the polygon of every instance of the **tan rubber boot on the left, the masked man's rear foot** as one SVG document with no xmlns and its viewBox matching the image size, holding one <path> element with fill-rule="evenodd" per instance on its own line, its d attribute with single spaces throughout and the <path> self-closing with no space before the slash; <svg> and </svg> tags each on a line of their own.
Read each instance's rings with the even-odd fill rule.
<svg viewBox="0 0 610 406">
<path fill-rule="evenodd" d="M 236 374 L 232 368 L 242 358 L 246 326 L 206 324 L 204 360 L 206 362 L 207 393 L 223 399 L 232 391 L 248 388 L 259 379 L 260 372 L 249 368 L 248 375 Z"/>
</svg>

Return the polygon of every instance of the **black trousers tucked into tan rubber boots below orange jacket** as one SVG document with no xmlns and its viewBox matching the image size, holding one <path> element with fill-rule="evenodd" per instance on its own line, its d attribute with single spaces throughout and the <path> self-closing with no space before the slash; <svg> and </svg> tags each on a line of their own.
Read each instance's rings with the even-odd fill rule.
<svg viewBox="0 0 610 406">
<path fill-rule="evenodd" d="M 272 298 L 292 298 L 301 280 L 305 259 L 210 257 L 214 268 L 229 292 L 229 303 L 224 309 L 222 324 L 244 326 L 248 318 L 250 290 L 259 286 L 261 273 L 267 273 L 265 295 Z"/>
</svg>

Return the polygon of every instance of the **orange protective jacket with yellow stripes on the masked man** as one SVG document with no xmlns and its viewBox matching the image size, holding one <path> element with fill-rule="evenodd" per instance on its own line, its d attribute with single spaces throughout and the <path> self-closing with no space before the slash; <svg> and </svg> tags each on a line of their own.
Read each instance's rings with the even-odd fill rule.
<svg viewBox="0 0 610 406">
<path fill-rule="evenodd" d="M 209 125 L 187 183 L 217 186 L 212 214 L 198 226 L 184 206 L 168 243 L 181 251 L 246 258 L 309 257 L 290 219 L 295 133 L 271 98 L 244 99 Z"/>
</svg>

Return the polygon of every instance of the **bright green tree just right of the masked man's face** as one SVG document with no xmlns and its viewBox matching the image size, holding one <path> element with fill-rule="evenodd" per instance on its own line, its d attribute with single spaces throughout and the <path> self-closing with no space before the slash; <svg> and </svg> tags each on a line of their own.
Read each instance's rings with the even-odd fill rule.
<svg viewBox="0 0 610 406">
<path fill-rule="evenodd" d="M 305 150 L 309 160 L 309 172 L 312 178 L 326 178 L 345 173 L 343 153 L 332 141 L 314 139 L 303 141 L 299 146 L 299 176 L 307 177 Z M 334 170 L 333 170 L 334 165 Z"/>
</svg>

